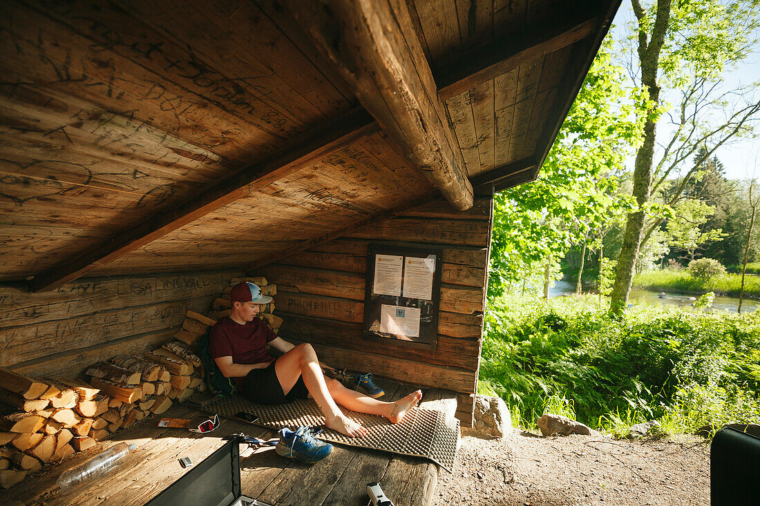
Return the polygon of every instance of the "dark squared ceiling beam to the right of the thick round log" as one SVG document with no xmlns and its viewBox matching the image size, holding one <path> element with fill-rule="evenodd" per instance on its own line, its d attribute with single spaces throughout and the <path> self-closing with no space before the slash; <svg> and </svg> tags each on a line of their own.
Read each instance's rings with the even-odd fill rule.
<svg viewBox="0 0 760 506">
<path fill-rule="evenodd" d="M 518 68 L 524 62 L 570 46 L 597 32 L 601 22 L 602 16 L 595 12 L 580 20 L 559 20 L 554 26 L 542 23 L 471 49 L 452 62 L 447 70 L 436 72 L 439 97 L 442 101 L 448 100 Z"/>
</svg>

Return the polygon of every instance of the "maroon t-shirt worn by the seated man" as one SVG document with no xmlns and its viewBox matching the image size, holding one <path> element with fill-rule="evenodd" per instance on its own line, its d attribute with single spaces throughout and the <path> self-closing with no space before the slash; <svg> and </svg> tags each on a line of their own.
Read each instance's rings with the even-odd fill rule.
<svg viewBox="0 0 760 506">
<path fill-rule="evenodd" d="M 269 354 L 265 345 L 276 338 L 277 334 L 259 318 L 241 325 L 226 316 L 211 327 L 211 357 L 218 359 L 220 356 L 231 356 L 236 364 L 271 362 L 274 357 Z M 242 378 L 233 380 L 239 383 Z"/>
</svg>

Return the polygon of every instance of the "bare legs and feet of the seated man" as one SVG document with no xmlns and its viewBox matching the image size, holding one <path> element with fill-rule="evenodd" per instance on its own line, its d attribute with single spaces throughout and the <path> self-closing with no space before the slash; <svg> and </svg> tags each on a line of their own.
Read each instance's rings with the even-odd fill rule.
<svg viewBox="0 0 760 506">
<path fill-rule="evenodd" d="M 354 437 L 367 435 L 366 429 L 344 416 L 336 402 L 346 406 L 349 410 L 382 415 L 396 423 L 401 421 L 404 414 L 411 407 L 416 406 L 416 403 L 422 398 L 422 393 L 416 391 L 395 403 L 385 403 L 349 390 L 340 384 L 340 381 L 325 381 L 325 375 L 319 367 L 317 354 L 308 343 L 299 344 L 288 353 L 280 356 L 274 364 L 274 371 L 277 373 L 277 379 L 286 394 L 296 384 L 299 376 L 302 376 L 309 394 L 325 413 L 325 425 L 337 432 Z"/>
</svg>

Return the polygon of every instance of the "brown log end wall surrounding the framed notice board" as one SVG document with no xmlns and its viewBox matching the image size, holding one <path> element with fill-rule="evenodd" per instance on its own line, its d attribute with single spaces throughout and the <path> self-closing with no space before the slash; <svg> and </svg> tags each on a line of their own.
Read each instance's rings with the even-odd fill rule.
<svg viewBox="0 0 760 506">
<path fill-rule="evenodd" d="M 492 198 L 468 211 L 436 201 L 315 245 L 255 271 L 277 284 L 280 335 L 315 346 L 324 362 L 458 392 L 457 416 L 472 425 L 483 332 Z M 437 349 L 362 338 L 370 243 L 443 248 Z"/>
</svg>

